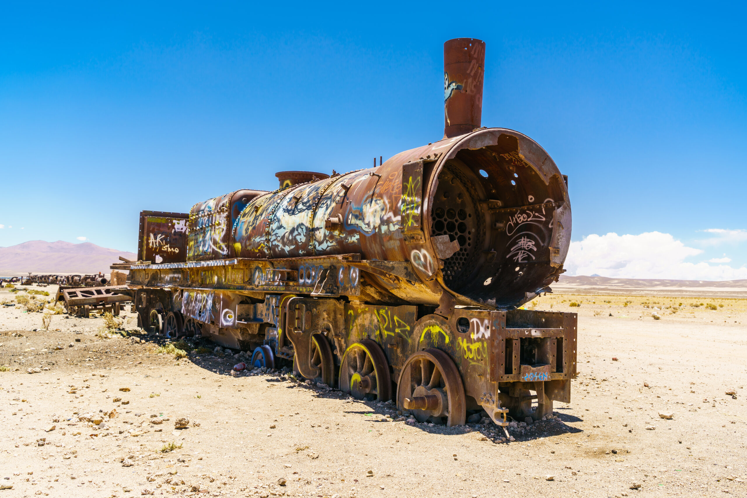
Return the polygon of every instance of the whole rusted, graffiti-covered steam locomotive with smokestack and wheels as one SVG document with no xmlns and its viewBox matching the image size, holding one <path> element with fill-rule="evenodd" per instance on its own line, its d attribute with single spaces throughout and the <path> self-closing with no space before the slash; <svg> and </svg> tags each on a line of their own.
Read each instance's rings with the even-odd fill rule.
<svg viewBox="0 0 747 498">
<path fill-rule="evenodd" d="M 421 421 L 506 425 L 570 402 L 575 314 L 519 309 L 562 273 L 567 178 L 481 127 L 485 43 L 444 44 L 444 137 L 369 169 L 280 172 L 188 214 L 143 211 L 129 290 L 143 326 L 291 364 Z M 501 415 L 503 414 L 503 417 Z"/>
</svg>

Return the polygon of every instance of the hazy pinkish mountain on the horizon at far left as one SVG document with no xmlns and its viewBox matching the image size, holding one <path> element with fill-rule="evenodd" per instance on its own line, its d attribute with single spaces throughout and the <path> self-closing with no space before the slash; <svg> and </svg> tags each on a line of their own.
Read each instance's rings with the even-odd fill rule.
<svg viewBox="0 0 747 498">
<path fill-rule="evenodd" d="M 118 261 L 120 256 L 137 259 L 134 252 L 99 247 L 90 242 L 30 240 L 16 246 L 0 247 L 0 276 L 23 276 L 28 272 L 39 275 L 109 273 L 109 265 Z"/>
</svg>

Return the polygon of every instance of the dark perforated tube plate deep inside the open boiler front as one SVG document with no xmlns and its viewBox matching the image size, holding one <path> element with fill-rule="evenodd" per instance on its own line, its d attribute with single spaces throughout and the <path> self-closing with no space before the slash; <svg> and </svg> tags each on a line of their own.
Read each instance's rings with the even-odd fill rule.
<svg viewBox="0 0 747 498">
<path fill-rule="evenodd" d="M 438 175 L 438 189 L 431 210 L 431 234 L 448 235 L 459 241 L 459 251 L 444 260 L 444 283 L 459 288 L 477 260 L 477 249 L 482 246 L 480 218 L 476 211 L 474 187 L 457 166 L 446 164 Z"/>
</svg>

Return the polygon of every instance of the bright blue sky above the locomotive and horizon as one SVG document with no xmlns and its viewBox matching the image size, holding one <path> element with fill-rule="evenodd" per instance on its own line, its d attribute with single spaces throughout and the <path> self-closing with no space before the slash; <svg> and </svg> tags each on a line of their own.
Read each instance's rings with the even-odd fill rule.
<svg viewBox="0 0 747 498">
<path fill-rule="evenodd" d="M 438 140 L 476 37 L 483 125 L 569 176 L 571 273 L 747 278 L 744 3 L 211 3 L 0 7 L 0 246 L 134 250 L 140 210 Z"/>
</svg>

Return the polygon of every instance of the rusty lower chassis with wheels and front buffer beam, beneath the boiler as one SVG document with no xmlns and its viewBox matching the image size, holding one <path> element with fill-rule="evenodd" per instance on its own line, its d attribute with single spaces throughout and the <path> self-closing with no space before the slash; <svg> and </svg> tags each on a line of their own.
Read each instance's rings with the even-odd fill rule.
<svg viewBox="0 0 747 498">
<path fill-rule="evenodd" d="M 253 351 L 358 398 L 395 399 L 418 420 L 465 423 L 484 410 L 505 426 L 571 401 L 577 315 L 477 306 L 379 305 L 366 281 L 417 280 L 406 262 L 358 255 L 131 264 L 126 292 L 144 327 Z M 123 290 L 118 290 L 123 292 Z"/>
</svg>

